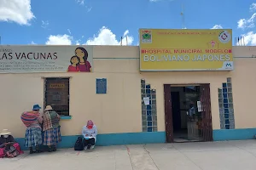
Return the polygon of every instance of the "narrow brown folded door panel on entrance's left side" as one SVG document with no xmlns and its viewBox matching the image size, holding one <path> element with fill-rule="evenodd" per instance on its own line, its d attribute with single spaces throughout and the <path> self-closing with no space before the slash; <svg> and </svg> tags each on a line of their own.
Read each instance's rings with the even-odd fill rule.
<svg viewBox="0 0 256 170">
<path fill-rule="evenodd" d="M 166 116 L 166 142 L 173 142 L 173 125 L 172 125 L 172 96 L 171 85 L 164 85 L 165 95 L 165 116 Z"/>
</svg>

